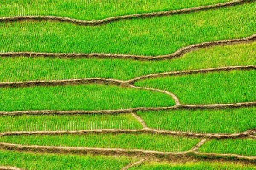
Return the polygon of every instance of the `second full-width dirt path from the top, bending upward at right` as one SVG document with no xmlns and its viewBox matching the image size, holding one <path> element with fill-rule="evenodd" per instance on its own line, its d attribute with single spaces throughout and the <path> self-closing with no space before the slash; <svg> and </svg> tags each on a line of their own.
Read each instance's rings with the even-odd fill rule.
<svg viewBox="0 0 256 170">
<path fill-rule="evenodd" d="M 111 57 L 111 58 L 131 58 L 131 59 L 140 59 L 140 60 L 160 60 L 160 59 L 172 59 L 175 57 L 181 57 L 183 54 L 186 54 L 198 48 L 206 48 L 206 47 L 211 47 L 216 45 L 233 45 L 233 44 L 239 44 L 239 43 L 252 42 L 255 40 L 256 40 L 256 34 L 253 34 L 250 37 L 245 37 L 240 39 L 203 42 L 200 44 L 189 45 L 189 46 L 180 48 L 171 54 L 158 55 L 158 56 L 143 56 L 143 55 L 130 55 L 130 54 L 104 54 L 104 53 L 40 53 L 40 52 L 0 52 L 0 56 L 3 56 L 3 57 L 11 57 L 11 56 L 96 57 L 96 58 Z"/>
</svg>

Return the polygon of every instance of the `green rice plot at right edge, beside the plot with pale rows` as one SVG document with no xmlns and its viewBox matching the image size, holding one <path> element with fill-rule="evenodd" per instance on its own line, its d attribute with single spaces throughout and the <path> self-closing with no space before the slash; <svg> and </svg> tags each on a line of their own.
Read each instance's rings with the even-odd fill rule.
<svg viewBox="0 0 256 170">
<path fill-rule="evenodd" d="M 150 128 L 203 133 L 239 133 L 256 128 L 256 107 L 137 112 Z"/>
</svg>

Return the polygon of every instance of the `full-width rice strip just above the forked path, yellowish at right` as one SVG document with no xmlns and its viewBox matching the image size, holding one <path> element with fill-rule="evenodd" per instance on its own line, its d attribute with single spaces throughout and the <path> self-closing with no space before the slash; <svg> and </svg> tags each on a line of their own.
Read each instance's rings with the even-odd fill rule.
<svg viewBox="0 0 256 170">
<path fill-rule="evenodd" d="M 160 61 L 97 58 L 0 57 L 0 82 L 104 77 L 128 80 L 167 71 L 256 65 L 256 42 L 202 48 Z M 93 70 L 93 71 L 92 71 Z"/>
</svg>

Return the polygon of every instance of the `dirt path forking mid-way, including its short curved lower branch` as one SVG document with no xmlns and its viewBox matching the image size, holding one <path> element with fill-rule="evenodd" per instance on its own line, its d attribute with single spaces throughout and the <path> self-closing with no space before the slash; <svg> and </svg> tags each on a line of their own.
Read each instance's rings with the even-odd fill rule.
<svg viewBox="0 0 256 170">
<path fill-rule="evenodd" d="M 134 86 L 134 82 L 143 79 L 151 79 L 156 77 L 174 76 L 174 75 L 185 75 L 185 74 L 196 74 L 196 73 L 209 73 L 215 71 L 231 71 L 231 70 L 255 70 L 256 65 L 238 65 L 238 66 L 227 66 L 227 67 L 216 67 L 216 68 L 205 68 L 198 70 L 186 70 L 186 71 L 170 71 L 156 74 L 147 74 L 139 76 L 130 80 L 118 80 L 118 79 L 106 79 L 106 78 L 84 78 L 84 79 L 64 79 L 64 80 L 38 80 L 38 81 L 22 81 L 22 82 L 0 82 L 0 88 L 7 87 L 32 87 L 32 86 L 45 86 L 45 85 L 79 85 L 79 84 L 91 84 L 91 83 L 102 83 L 102 84 L 113 84 L 121 85 L 122 87 L 141 88 Z M 169 94 L 175 99 L 176 103 L 179 103 L 177 96 L 169 91 L 163 91 L 153 88 L 144 88 L 146 90 L 161 91 Z"/>
</svg>

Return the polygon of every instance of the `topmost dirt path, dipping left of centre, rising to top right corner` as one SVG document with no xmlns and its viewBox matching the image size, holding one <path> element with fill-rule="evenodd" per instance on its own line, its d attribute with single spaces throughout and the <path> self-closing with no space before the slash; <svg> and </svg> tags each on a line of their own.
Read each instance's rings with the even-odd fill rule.
<svg viewBox="0 0 256 170">
<path fill-rule="evenodd" d="M 34 15 L 34 16 L 0 17 L 0 21 L 3 22 L 3 21 L 18 21 L 18 20 L 55 20 L 55 21 L 76 23 L 80 25 L 101 25 L 101 24 L 110 23 L 113 21 L 118 21 L 118 20 L 182 14 L 182 13 L 189 13 L 194 11 L 221 8 L 224 6 L 234 6 L 234 5 L 253 2 L 253 1 L 255 0 L 233 0 L 226 3 L 217 3 L 213 5 L 207 5 L 207 6 L 198 6 L 198 7 L 178 9 L 178 10 L 172 10 L 172 11 L 160 11 L 160 12 L 151 12 L 151 13 L 143 13 L 143 14 L 123 15 L 123 16 L 117 16 L 117 17 L 109 17 L 102 20 L 77 20 L 69 17 Z"/>
</svg>

